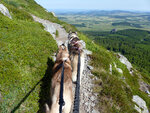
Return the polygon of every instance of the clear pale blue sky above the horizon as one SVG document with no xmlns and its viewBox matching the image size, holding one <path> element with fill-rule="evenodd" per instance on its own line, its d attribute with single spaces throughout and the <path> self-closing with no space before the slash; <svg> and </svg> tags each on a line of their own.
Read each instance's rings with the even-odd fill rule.
<svg viewBox="0 0 150 113">
<path fill-rule="evenodd" d="M 46 9 L 150 11 L 150 0 L 35 0 Z"/>
</svg>

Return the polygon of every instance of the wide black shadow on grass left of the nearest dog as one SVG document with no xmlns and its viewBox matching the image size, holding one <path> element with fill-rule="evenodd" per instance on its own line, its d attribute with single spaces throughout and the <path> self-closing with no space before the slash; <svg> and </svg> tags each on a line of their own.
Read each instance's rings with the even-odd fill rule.
<svg viewBox="0 0 150 113">
<path fill-rule="evenodd" d="M 51 105 L 50 98 L 50 86 L 51 86 L 51 78 L 52 78 L 52 68 L 54 66 L 54 62 L 48 58 L 47 60 L 47 70 L 45 75 L 41 81 L 41 91 L 39 94 L 39 111 L 38 113 L 45 113 L 45 104 L 47 103 L 49 106 Z"/>
</svg>

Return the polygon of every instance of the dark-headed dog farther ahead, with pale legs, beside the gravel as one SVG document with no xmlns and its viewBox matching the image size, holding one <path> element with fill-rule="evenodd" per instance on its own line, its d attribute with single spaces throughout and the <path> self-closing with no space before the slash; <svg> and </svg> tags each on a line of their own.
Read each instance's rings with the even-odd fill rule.
<svg viewBox="0 0 150 113">
<path fill-rule="evenodd" d="M 77 69 L 78 69 L 78 54 L 80 52 L 80 81 L 84 69 L 84 47 L 85 43 L 79 39 L 77 32 L 69 32 L 68 35 L 68 49 L 70 53 L 71 65 L 72 65 L 72 81 L 77 81 Z M 80 82 L 81 83 L 81 82 Z"/>
</svg>

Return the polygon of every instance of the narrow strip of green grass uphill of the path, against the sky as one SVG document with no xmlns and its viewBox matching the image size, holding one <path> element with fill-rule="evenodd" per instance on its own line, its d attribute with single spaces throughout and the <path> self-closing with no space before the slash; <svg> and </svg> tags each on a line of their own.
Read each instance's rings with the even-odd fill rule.
<svg viewBox="0 0 150 113">
<path fill-rule="evenodd" d="M 46 9 L 38 5 L 34 0 L 1 0 L 1 2 L 10 9 L 10 7 L 15 7 L 17 9 L 23 9 L 26 12 L 38 16 L 40 18 L 50 20 L 51 22 L 61 24 L 67 32 L 76 31 L 77 29 L 54 17 L 51 12 L 47 12 Z"/>
</svg>

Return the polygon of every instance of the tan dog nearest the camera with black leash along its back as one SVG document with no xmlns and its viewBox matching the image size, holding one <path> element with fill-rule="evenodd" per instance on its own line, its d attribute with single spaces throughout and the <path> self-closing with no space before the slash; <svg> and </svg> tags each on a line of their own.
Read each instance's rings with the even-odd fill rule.
<svg viewBox="0 0 150 113">
<path fill-rule="evenodd" d="M 64 91 L 63 97 L 65 105 L 63 106 L 63 113 L 70 113 L 73 103 L 72 93 L 72 67 L 69 59 L 69 52 L 66 46 L 59 46 L 59 52 L 56 57 L 56 61 L 53 67 L 53 77 L 51 81 L 51 99 L 52 105 L 49 110 L 46 105 L 46 113 L 59 113 L 59 94 L 60 94 L 60 82 L 62 63 L 64 62 Z"/>
</svg>

